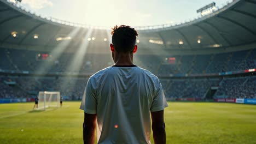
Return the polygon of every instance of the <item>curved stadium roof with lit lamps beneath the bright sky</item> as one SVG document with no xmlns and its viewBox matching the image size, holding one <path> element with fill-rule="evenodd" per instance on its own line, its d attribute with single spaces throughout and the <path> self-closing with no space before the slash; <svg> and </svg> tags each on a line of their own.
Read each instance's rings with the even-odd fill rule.
<svg viewBox="0 0 256 144">
<path fill-rule="evenodd" d="M 256 46 L 255 7 L 255 0 L 234 1 L 209 15 L 180 25 L 138 27 L 137 42 L 139 47 L 156 50 L 193 51 L 239 46 L 249 49 Z M 69 47 L 77 47 L 92 37 L 98 41 L 110 39 L 110 29 L 44 18 L 9 0 L 0 0 L 0 31 L 1 47 L 26 49 L 50 50 L 63 41 L 69 41 Z"/>
</svg>

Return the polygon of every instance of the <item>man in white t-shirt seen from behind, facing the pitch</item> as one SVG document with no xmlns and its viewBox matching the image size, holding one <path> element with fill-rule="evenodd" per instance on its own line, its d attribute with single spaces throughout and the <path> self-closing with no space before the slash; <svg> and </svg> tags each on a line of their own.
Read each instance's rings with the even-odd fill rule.
<svg viewBox="0 0 256 144">
<path fill-rule="evenodd" d="M 96 127 L 98 143 L 150 143 L 151 113 L 154 142 L 164 144 L 168 105 L 158 77 L 133 64 L 138 34 L 125 25 L 111 34 L 115 64 L 89 78 L 80 106 L 84 143 L 95 142 Z"/>
</svg>

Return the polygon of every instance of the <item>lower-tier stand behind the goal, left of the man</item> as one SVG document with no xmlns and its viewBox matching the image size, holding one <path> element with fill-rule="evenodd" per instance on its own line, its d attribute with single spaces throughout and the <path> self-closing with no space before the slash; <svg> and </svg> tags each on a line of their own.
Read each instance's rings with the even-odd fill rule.
<svg viewBox="0 0 256 144">
<path fill-rule="evenodd" d="M 80 100 L 88 79 L 60 77 L 0 77 L 1 98 L 31 98 L 39 91 L 59 91 L 66 100 Z M 8 84 L 5 81 L 14 82 Z"/>
</svg>

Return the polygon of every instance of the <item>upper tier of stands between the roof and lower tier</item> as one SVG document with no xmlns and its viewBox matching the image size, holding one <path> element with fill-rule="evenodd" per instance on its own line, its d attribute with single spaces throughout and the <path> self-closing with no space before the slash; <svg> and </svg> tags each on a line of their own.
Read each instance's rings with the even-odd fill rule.
<svg viewBox="0 0 256 144">
<path fill-rule="evenodd" d="M 49 54 L 46 59 L 37 58 L 40 53 L 42 54 L 36 51 L 0 48 L 0 69 L 38 72 L 44 67 L 45 73 L 95 73 L 113 64 L 110 53 L 86 54 L 80 67 L 70 67 L 74 53 L 64 52 L 60 57 Z M 170 62 L 170 57 L 175 58 L 175 61 Z M 156 75 L 220 73 L 256 68 L 256 49 L 212 55 L 135 55 L 134 62 Z"/>
</svg>

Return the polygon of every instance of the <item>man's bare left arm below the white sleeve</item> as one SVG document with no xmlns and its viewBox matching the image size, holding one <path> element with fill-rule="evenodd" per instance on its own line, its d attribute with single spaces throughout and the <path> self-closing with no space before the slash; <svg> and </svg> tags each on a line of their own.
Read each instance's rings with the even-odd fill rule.
<svg viewBox="0 0 256 144">
<path fill-rule="evenodd" d="M 94 144 L 97 115 L 84 113 L 83 137 L 84 144 Z"/>
</svg>

